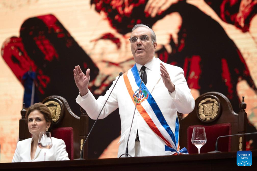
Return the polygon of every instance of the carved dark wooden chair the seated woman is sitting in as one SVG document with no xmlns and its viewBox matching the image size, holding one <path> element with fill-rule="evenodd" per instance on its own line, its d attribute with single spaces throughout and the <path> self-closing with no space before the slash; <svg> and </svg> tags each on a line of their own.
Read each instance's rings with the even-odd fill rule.
<svg viewBox="0 0 257 171">
<path fill-rule="evenodd" d="M 81 108 L 81 116 L 75 115 L 67 101 L 57 95 L 49 96 L 42 101 L 47 105 L 52 113 L 53 129 L 52 137 L 63 139 L 66 144 L 66 150 L 71 160 L 80 158 L 81 147 L 88 135 L 88 115 Z M 21 119 L 19 123 L 19 141 L 31 138 L 28 125 L 25 121 L 26 110 L 23 105 L 21 110 Z M 87 158 L 88 143 L 85 144 L 83 156 Z"/>
</svg>

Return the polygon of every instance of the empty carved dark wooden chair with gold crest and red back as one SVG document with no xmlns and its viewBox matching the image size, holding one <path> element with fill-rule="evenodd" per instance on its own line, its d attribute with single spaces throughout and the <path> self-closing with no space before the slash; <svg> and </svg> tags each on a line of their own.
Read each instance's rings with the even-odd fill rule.
<svg viewBox="0 0 257 171">
<path fill-rule="evenodd" d="M 226 96 L 218 92 L 208 92 L 200 95 L 195 100 L 194 110 L 186 117 L 178 113 L 180 123 L 179 145 L 186 147 L 189 154 L 198 153 L 197 148 L 191 143 L 194 127 L 204 127 L 207 143 L 202 146 L 200 152 L 214 151 L 216 139 L 223 135 L 246 133 L 246 103 L 244 98 L 240 103 L 241 111 L 237 114 L 233 111 L 230 101 Z M 218 150 L 238 151 L 245 150 L 246 139 L 243 136 L 220 138 Z"/>
</svg>

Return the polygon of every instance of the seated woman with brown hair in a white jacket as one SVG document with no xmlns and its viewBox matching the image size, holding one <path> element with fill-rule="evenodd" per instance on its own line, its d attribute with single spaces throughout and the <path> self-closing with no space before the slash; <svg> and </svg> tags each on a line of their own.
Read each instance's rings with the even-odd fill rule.
<svg viewBox="0 0 257 171">
<path fill-rule="evenodd" d="M 39 133 L 49 131 L 52 124 L 50 110 L 43 103 L 31 105 L 26 113 L 32 138 L 19 141 L 12 162 L 44 161 L 44 151 L 37 146 Z M 63 140 L 52 137 L 53 146 L 46 152 L 45 161 L 70 160 Z"/>
</svg>

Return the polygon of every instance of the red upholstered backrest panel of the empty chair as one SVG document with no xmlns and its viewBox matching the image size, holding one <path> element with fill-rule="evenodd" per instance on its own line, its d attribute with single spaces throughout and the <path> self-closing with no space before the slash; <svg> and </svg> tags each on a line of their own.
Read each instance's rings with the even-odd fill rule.
<svg viewBox="0 0 257 171">
<path fill-rule="evenodd" d="M 207 143 L 202 146 L 200 153 L 206 153 L 215 150 L 215 143 L 219 136 L 223 135 L 231 135 L 231 124 L 230 123 L 223 123 L 223 124 L 216 124 L 211 126 L 204 126 L 204 125 L 193 125 L 187 128 L 187 150 L 189 154 L 198 153 L 198 150 L 194 144 L 191 142 L 192 133 L 194 127 L 204 127 Z M 218 141 L 218 150 L 221 152 L 230 151 L 231 146 L 231 137 L 224 137 L 220 138 Z"/>
</svg>

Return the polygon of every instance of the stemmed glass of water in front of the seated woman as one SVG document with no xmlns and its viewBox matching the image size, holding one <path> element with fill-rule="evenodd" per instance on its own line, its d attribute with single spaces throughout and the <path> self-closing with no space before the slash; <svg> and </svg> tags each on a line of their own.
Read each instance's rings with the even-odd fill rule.
<svg viewBox="0 0 257 171">
<path fill-rule="evenodd" d="M 49 150 L 53 146 L 50 132 L 39 133 L 38 146 L 43 150 Z M 45 151 L 45 154 L 46 154 L 46 151 Z"/>
</svg>

